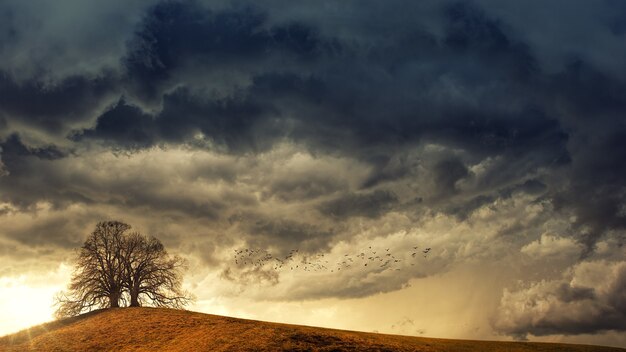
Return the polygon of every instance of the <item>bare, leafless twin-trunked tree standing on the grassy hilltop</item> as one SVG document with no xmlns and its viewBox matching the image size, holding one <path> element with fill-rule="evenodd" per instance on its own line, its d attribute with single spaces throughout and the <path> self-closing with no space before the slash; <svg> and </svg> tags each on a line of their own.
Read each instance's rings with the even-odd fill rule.
<svg viewBox="0 0 626 352">
<path fill-rule="evenodd" d="M 57 317 L 95 308 L 142 303 L 182 308 L 191 297 L 182 291 L 184 261 L 169 256 L 156 238 L 126 232 L 119 221 L 100 222 L 80 248 L 67 292 L 56 297 Z M 121 302 L 121 304 L 120 304 Z"/>
</svg>

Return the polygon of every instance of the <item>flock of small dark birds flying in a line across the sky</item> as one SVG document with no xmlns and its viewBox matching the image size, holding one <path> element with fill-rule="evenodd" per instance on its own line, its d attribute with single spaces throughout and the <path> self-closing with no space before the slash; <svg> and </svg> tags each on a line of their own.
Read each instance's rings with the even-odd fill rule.
<svg viewBox="0 0 626 352">
<path fill-rule="evenodd" d="M 419 246 L 411 247 L 405 255 L 396 256 L 389 248 L 372 249 L 357 253 L 346 253 L 341 259 L 332 260 L 330 255 L 325 254 L 300 254 L 298 249 L 292 249 L 285 256 L 274 256 L 262 249 L 235 249 L 234 263 L 239 267 L 271 268 L 276 271 L 303 270 L 310 272 L 338 272 L 349 268 L 378 268 L 384 270 L 401 270 L 407 264 L 415 265 L 420 257 L 428 257 L 431 248 L 420 249 Z M 409 255 L 410 253 L 410 255 Z M 409 263 L 405 263 L 405 262 Z"/>
</svg>

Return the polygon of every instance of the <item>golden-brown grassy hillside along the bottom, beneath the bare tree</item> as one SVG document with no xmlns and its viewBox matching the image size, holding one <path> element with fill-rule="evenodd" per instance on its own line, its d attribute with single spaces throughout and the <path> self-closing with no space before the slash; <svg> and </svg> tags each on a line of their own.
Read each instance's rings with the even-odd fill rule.
<svg viewBox="0 0 626 352">
<path fill-rule="evenodd" d="M 333 330 L 156 308 L 107 309 L 0 338 L 0 351 L 626 351 Z"/>
</svg>

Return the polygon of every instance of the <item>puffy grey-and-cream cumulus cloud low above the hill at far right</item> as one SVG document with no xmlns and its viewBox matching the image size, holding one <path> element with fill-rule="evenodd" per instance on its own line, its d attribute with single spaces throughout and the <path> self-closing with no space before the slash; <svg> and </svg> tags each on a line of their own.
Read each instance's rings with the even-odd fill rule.
<svg viewBox="0 0 626 352">
<path fill-rule="evenodd" d="M 560 280 L 505 290 L 494 327 L 520 338 L 626 330 L 626 262 L 585 261 Z"/>
</svg>

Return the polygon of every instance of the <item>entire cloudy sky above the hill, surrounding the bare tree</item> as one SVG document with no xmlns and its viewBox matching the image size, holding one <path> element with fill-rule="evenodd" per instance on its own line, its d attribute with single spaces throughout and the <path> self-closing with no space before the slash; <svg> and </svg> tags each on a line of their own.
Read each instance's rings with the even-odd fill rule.
<svg viewBox="0 0 626 352">
<path fill-rule="evenodd" d="M 192 310 L 626 347 L 625 44 L 617 0 L 3 0 L 0 334 L 120 220 Z"/>
</svg>

